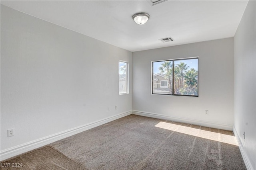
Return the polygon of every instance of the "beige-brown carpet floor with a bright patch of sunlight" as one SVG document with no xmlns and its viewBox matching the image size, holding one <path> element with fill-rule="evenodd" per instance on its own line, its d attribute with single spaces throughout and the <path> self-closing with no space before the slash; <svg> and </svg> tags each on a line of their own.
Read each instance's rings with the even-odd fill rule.
<svg viewBox="0 0 256 170">
<path fill-rule="evenodd" d="M 22 163 L 20 168 L 3 167 Z M 129 115 L 1 162 L 20 170 L 246 170 L 232 131 Z"/>
</svg>

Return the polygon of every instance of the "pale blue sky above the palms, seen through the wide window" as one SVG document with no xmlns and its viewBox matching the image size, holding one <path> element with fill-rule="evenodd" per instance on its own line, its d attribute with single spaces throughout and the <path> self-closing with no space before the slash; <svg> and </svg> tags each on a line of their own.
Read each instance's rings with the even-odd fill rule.
<svg viewBox="0 0 256 170">
<path fill-rule="evenodd" d="M 176 64 L 180 64 L 180 62 L 183 62 L 185 64 L 187 64 L 188 70 L 190 68 L 194 68 L 195 70 L 198 70 L 198 59 L 186 59 L 186 60 L 175 60 L 174 64 L 176 66 Z M 160 73 L 160 71 L 158 70 L 158 68 L 160 66 L 162 66 L 161 64 L 164 63 L 164 61 L 159 61 L 159 62 L 153 62 L 153 68 L 154 68 L 154 74 L 156 73 Z"/>
</svg>

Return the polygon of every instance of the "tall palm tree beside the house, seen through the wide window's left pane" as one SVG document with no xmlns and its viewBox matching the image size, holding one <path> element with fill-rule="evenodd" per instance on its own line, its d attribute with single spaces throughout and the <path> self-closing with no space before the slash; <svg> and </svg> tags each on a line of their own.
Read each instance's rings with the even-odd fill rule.
<svg viewBox="0 0 256 170">
<path fill-rule="evenodd" d="M 170 93 L 172 94 L 172 61 L 165 61 L 158 69 L 168 79 Z"/>
</svg>

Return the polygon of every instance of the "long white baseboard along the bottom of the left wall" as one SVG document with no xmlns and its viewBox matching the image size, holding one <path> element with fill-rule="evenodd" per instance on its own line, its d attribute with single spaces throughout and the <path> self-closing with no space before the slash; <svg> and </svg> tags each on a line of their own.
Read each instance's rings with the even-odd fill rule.
<svg viewBox="0 0 256 170">
<path fill-rule="evenodd" d="M 120 113 L 118 115 L 114 115 L 114 116 L 111 116 L 111 117 L 107 117 L 105 119 L 101 119 L 99 121 L 94 121 L 92 123 L 88 123 L 88 124 L 81 125 L 81 126 L 78 126 L 78 127 L 72 128 L 72 129 L 68 129 L 66 131 L 56 133 L 54 135 L 50 135 L 50 136 L 43 137 L 41 139 L 37 139 L 37 140 L 31 141 L 31 142 L 28 142 L 28 143 L 24 143 L 22 145 L 18 145 L 18 146 L 9 148 L 9 149 L 1 150 L 0 160 L 1 161 L 6 160 L 8 158 L 11 158 L 13 156 L 17 156 L 19 154 L 28 152 L 30 150 L 37 149 L 39 147 L 43 147 L 43 146 L 48 145 L 52 142 L 58 141 L 60 139 L 64 139 L 66 137 L 70 137 L 70 136 L 75 135 L 77 133 L 80 133 L 82 131 L 92 129 L 92 128 L 97 127 L 99 125 L 103 125 L 105 123 L 108 123 L 110 121 L 119 119 L 121 117 L 130 115 L 130 114 L 132 114 L 132 111 L 127 111 L 127 112 L 124 112 L 124 113 Z"/>
</svg>

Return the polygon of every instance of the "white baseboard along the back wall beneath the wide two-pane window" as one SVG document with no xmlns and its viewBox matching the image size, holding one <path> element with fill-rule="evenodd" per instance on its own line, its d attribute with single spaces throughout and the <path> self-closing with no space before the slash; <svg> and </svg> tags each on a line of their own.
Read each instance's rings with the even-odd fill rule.
<svg viewBox="0 0 256 170">
<path fill-rule="evenodd" d="M 196 119 L 172 117 L 172 116 L 160 115 L 160 114 L 157 114 L 157 113 L 150 113 L 150 112 L 138 111 L 138 110 L 133 110 L 132 114 L 140 115 L 140 116 L 146 116 L 146 117 L 153 117 L 153 118 L 157 118 L 157 119 L 177 121 L 177 122 L 182 122 L 182 123 L 190 123 L 190 124 L 193 124 L 193 125 L 212 127 L 212 128 L 216 128 L 216 129 L 224 129 L 224 130 L 228 130 L 228 131 L 233 130 L 233 125 L 228 125 L 228 124 L 224 124 L 224 123 L 215 123 L 215 122 L 201 121 L 201 120 L 196 120 Z"/>
</svg>

